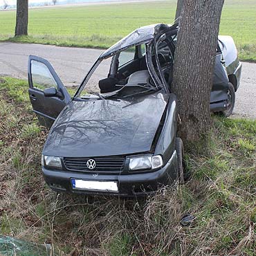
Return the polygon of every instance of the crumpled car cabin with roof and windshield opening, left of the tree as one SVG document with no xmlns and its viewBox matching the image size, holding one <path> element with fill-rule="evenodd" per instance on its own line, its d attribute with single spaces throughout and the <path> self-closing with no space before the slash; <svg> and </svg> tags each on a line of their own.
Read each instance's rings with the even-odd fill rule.
<svg viewBox="0 0 256 256">
<path fill-rule="evenodd" d="M 102 100 L 160 89 L 169 92 L 177 30 L 176 24 L 134 30 L 100 55 L 74 97 Z"/>
</svg>

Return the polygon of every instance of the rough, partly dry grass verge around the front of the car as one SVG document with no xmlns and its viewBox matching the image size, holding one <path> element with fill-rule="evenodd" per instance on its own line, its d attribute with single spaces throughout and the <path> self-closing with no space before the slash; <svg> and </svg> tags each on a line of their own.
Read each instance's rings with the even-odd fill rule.
<svg viewBox="0 0 256 256">
<path fill-rule="evenodd" d="M 147 199 L 56 194 L 40 171 L 48 131 L 28 85 L 0 82 L 1 234 L 52 243 L 56 255 L 256 254 L 255 120 L 215 117 L 208 154 L 186 152 L 190 180 Z M 181 226 L 188 213 L 194 221 Z"/>
</svg>

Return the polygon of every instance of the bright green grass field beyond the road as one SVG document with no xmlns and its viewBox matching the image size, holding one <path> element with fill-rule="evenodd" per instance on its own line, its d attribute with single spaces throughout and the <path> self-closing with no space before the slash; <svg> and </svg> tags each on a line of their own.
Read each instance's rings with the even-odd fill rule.
<svg viewBox="0 0 256 256">
<path fill-rule="evenodd" d="M 28 37 L 14 38 L 15 11 L 0 12 L 0 40 L 108 48 L 140 26 L 172 23 L 176 1 L 42 8 L 29 11 Z M 241 60 L 256 61 L 255 0 L 226 0 L 221 35 L 231 35 Z"/>
</svg>

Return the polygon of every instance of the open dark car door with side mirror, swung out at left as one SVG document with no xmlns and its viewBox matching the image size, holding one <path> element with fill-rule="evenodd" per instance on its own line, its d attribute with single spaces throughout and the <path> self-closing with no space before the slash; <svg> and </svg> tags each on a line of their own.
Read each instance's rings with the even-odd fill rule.
<svg viewBox="0 0 256 256">
<path fill-rule="evenodd" d="M 29 98 L 40 125 L 51 127 L 71 96 L 53 69 L 41 57 L 28 58 Z"/>
</svg>

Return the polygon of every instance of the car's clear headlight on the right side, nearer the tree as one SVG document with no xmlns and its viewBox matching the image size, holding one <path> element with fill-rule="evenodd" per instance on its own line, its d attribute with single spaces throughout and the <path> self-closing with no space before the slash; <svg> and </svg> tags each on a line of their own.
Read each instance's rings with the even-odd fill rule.
<svg viewBox="0 0 256 256">
<path fill-rule="evenodd" d="M 162 167 L 162 156 L 136 156 L 129 158 L 129 170 L 154 170 Z"/>
</svg>

